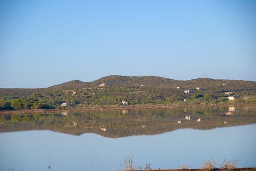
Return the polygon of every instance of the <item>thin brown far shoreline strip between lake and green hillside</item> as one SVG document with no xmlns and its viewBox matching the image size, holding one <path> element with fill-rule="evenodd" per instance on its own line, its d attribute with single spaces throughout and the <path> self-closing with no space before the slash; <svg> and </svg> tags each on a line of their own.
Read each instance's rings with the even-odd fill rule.
<svg viewBox="0 0 256 171">
<path fill-rule="evenodd" d="M 256 104 L 208 104 L 208 105 L 138 105 L 138 106 L 91 106 L 91 107 L 66 107 L 58 109 L 23 109 L 23 110 L 0 110 L 0 115 L 28 114 L 28 113 L 61 113 L 78 111 L 100 111 L 100 110 L 128 110 L 128 109 L 162 109 L 162 108 L 196 108 L 196 107 L 246 107 Z"/>
</svg>

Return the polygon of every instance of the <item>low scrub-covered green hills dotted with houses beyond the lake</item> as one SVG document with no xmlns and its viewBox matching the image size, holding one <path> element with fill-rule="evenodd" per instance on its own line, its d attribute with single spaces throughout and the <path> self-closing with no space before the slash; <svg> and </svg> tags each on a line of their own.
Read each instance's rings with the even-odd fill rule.
<svg viewBox="0 0 256 171">
<path fill-rule="evenodd" d="M 192 93 L 184 92 L 188 89 Z M 234 100 L 229 100 L 229 96 Z M 256 104 L 256 82 L 112 75 L 93 82 L 73 80 L 47 88 L 0 88 L 0 110 L 64 108 L 62 103 L 66 107 L 121 106 L 122 101 L 130 106 L 250 105 Z"/>
</svg>

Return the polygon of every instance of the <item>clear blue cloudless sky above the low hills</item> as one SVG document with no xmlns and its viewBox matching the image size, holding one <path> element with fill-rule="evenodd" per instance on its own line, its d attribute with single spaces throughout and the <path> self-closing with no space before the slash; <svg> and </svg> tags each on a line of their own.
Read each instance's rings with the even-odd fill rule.
<svg viewBox="0 0 256 171">
<path fill-rule="evenodd" d="M 256 0 L 0 0 L 0 87 L 256 81 Z"/>
</svg>

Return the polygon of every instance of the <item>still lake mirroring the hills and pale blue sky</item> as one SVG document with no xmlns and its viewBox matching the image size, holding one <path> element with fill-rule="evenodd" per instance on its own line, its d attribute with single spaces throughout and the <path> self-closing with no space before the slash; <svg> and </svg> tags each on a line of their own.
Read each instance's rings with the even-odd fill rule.
<svg viewBox="0 0 256 171">
<path fill-rule="evenodd" d="M 181 123 L 178 123 L 178 122 Z M 0 116 L 0 170 L 123 170 L 238 160 L 256 167 L 256 107 L 63 112 Z"/>
</svg>

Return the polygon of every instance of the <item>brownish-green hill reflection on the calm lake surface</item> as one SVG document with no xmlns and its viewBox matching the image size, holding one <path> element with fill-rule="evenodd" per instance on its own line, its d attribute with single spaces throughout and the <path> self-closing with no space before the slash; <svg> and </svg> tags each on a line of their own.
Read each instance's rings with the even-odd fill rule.
<svg viewBox="0 0 256 171">
<path fill-rule="evenodd" d="M 186 116 L 190 116 L 190 120 L 186 120 Z M 201 121 L 197 122 L 199 118 Z M 91 132 L 114 138 L 160 134 L 181 128 L 206 130 L 254 123 L 256 107 L 112 110 L 0 116 L 0 132 L 49 129 L 72 135 Z"/>
</svg>

